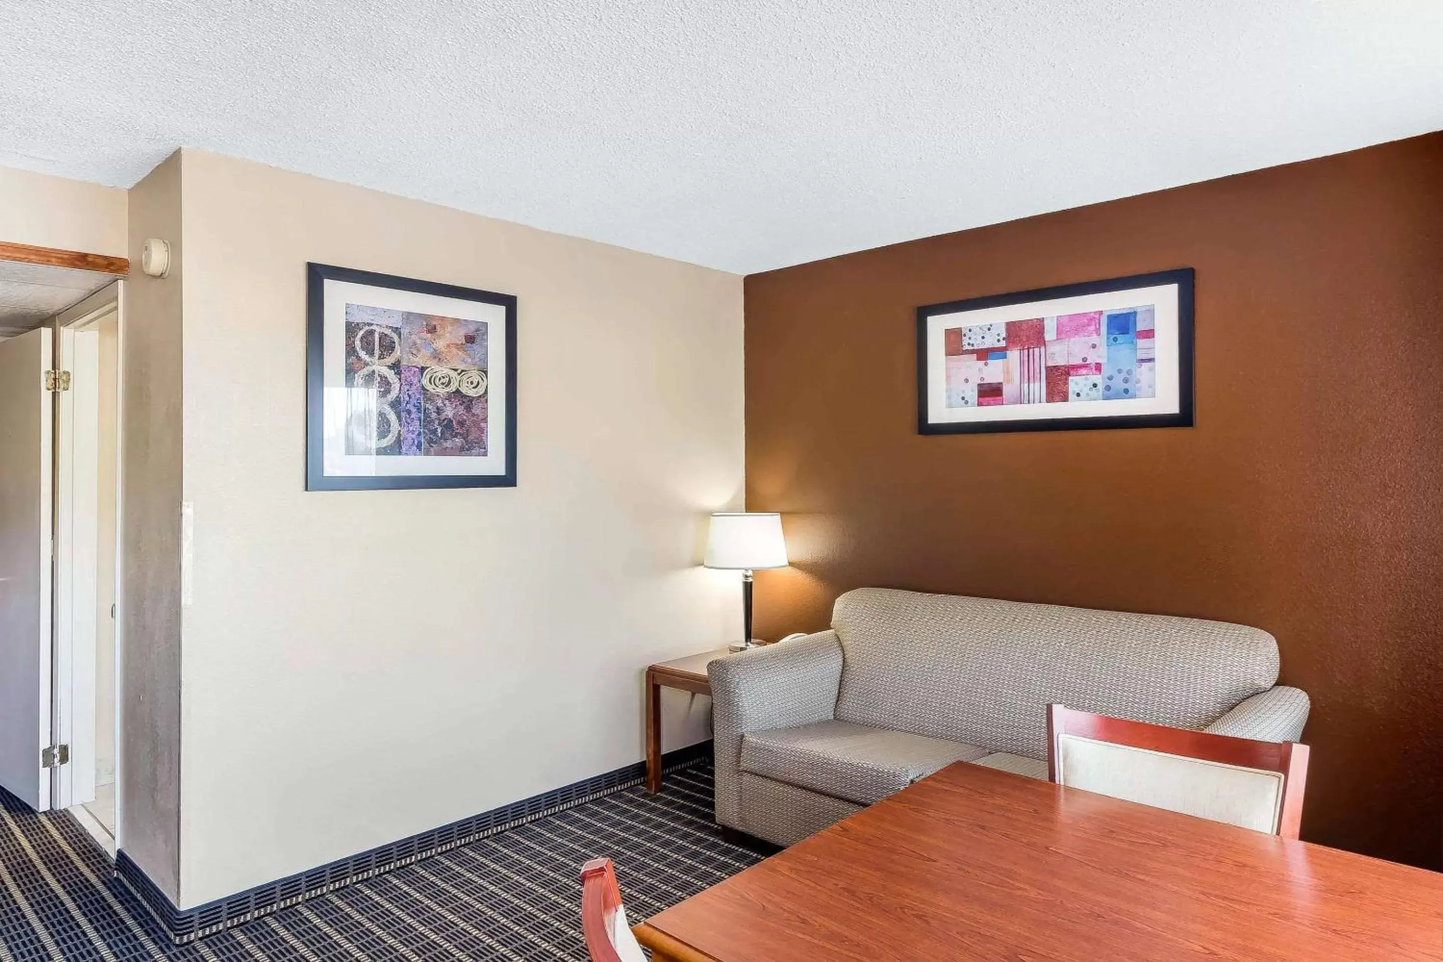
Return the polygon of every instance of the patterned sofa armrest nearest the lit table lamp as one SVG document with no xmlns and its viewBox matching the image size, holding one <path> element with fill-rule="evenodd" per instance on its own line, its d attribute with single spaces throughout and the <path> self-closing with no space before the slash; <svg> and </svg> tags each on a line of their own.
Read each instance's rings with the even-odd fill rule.
<svg viewBox="0 0 1443 962">
<path fill-rule="evenodd" d="M 716 754 L 717 822 L 740 828 L 742 736 L 831 718 L 841 685 L 841 642 L 818 632 L 707 665 Z"/>
</svg>

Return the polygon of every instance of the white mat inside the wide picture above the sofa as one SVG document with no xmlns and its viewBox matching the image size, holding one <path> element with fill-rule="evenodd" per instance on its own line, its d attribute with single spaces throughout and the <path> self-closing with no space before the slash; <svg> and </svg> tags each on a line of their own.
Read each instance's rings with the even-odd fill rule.
<svg viewBox="0 0 1443 962">
<path fill-rule="evenodd" d="M 1078 294 L 1035 300 L 1001 307 L 980 307 L 926 319 L 926 420 L 929 424 L 965 424 L 991 421 L 1051 421 L 1075 417 L 1137 417 L 1140 414 L 1177 414 L 1182 410 L 1177 381 L 1179 330 L 1177 284 L 1131 287 L 1102 294 Z M 1153 342 L 1156 345 L 1156 394 L 1152 398 L 1124 401 L 1059 401 L 1053 404 L 993 404 L 986 407 L 947 407 L 947 345 L 949 327 L 1029 320 L 1056 314 L 1081 314 L 1092 310 L 1153 306 Z M 1104 332 L 1105 335 L 1105 332 Z"/>
</svg>

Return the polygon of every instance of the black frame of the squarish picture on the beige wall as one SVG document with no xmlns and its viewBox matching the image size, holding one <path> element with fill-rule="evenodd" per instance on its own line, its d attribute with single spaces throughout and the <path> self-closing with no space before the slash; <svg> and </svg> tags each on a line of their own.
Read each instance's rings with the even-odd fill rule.
<svg viewBox="0 0 1443 962">
<path fill-rule="evenodd" d="M 392 290 L 472 300 L 505 309 L 506 464 L 504 475 L 390 475 L 328 476 L 325 473 L 325 281 L 348 281 Z M 306 264 L 306 490 L 401 490 L 423 487 L 515 487 L 517 486 L 517 297 L 496 291 L 423 281 L 414 277 L 378 274 L 332 264 Z M 495 385 L 491 388 L 495 389 Z"/>
</svg>

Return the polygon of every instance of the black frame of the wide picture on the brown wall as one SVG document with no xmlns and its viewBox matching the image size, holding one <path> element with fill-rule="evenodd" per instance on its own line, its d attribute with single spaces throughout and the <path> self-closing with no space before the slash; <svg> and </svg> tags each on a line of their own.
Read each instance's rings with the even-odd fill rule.
<svg viewBox="0 0 1443 962">
<path fill-rule="evenodd" d="M 1001 434 L 1014 431 L 1092 431 L 1134 427 L 1193 427 L 1193 268 L 1110 277 L 1079 284 L 1038 287 L 1009 294 L 968 297 L 916 309 L 916 431 L 918 434 Z M 928 320 L 962 310 L 1006 307 L 1059 297 L 1110 294 L 1134 287 L 1177 286 L 1177 411 L 1113 417 L 1059 417 L 1032 421 L 935 423 L 928 420 Z"/>
</svg>

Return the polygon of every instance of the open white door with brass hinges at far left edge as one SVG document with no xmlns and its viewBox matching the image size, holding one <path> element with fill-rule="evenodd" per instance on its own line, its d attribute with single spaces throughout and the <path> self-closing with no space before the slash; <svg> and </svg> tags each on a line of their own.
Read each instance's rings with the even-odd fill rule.
<svg viewBox="0 0 1443 962">
<path fill-rule="evenodd" d="M 0 786 L 51 806 L 51 332 L 0 340 Z"/>
</svg>

